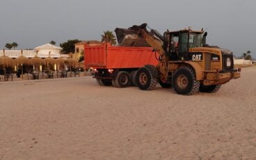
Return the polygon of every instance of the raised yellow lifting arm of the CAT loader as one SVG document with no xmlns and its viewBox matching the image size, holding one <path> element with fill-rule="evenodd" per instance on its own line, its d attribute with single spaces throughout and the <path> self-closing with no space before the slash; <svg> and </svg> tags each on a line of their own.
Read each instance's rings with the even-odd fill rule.
<svg viewBox="0 0 256 160">
<path fill-rule="evenodd" d="M 154 48 L 155 51 L 159 53 L 159 63 L 157 65 L 157 70 L 159 71 L 161 81 L 166 83 L 168 79 L 168 56 L 166 51 L 163 49 L 162 45 L 159 43 L 159 40 L 154 38 L 154 35 L 149 33 L 146 29 L 147 24 L 141 24 L 141 26 L 131 26 L 129 29 L 135 31 L 141 38 L 145 39 L 145 41 Z M 154 34 L 158 33 L 152 30 Z M 157 36 L 159 37 L 159 36 Z M 161 41 L 164 39 L 162 36 L 160 37 Z"/>
</svg>

